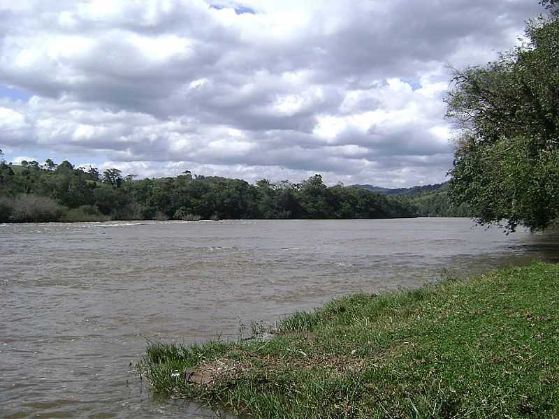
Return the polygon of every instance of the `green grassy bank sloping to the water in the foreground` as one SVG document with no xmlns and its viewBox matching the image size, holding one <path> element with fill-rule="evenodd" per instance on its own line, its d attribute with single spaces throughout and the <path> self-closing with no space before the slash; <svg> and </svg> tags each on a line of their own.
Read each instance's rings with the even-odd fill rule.
<svg viewBox="0 0 559 419">
<path fill-rule="evenodd" d="M 254 418 L 559 418 L 559 265 L 354 295 L 271 341 L 152 344 L 138 367 Z"/>
</svg>

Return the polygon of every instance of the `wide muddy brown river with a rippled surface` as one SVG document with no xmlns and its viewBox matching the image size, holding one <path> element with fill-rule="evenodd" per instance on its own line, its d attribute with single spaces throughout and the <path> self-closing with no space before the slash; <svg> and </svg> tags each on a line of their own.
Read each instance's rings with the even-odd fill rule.
<svg viewBox="0 0 559 419">
<path fill-rule="evenodd" d="M 215 417 L 152 397 L 130 367 L 146 339 L 237 339 L 348 293 L 558 256 L 558 233 L 468 219 L 3 224 L 0 417 Z"/>
</svg>

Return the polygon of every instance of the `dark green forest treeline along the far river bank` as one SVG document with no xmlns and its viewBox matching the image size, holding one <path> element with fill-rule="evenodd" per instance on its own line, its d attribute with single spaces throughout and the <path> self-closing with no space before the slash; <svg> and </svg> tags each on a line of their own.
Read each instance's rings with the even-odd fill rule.
<svg viewBox="0 0 559 419">
<path fill-rule="evenodd" d="M 117 169 L 0 163 L 0 222 L 143 219 L 386 219 L 449 215 L 446 191 L 381 196 L 357 186 L 326 186 L 321 175 L 299 183 L 255 185 L 193 175 L 134 179 Z M 467 215 L 467 214 L 464 214 Z"/>
</svg>

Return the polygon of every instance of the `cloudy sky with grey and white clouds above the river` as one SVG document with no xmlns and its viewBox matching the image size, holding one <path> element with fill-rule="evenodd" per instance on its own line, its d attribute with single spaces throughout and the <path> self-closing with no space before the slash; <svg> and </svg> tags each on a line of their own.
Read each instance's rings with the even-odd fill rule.
<svg viewBox="0 0 559 419">
<path fill-rule="evenodd" d="M 0 149 L 138 177 L 444 182 L 451 68 L 536 0 L 0 0 Z"/>
</svg>

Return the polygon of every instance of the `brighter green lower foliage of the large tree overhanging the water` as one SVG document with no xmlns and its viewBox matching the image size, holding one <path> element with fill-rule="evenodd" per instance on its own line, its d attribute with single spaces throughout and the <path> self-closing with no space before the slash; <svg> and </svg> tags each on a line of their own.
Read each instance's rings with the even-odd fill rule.
<svg viewBox="0 0 559 419">
<path fill-rule="evenodd" d="M 530 156 L 530 145 L 523 137 L 492 147 L 464 144 L 456 152 L 451 197 L 467 202 L 481 223 L 511 231 L 518 224 L 532 230 L 552 226 L 559 216 L 558 150 Z"/>
</svg>

